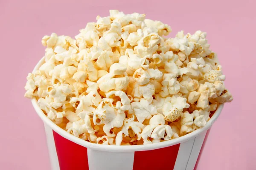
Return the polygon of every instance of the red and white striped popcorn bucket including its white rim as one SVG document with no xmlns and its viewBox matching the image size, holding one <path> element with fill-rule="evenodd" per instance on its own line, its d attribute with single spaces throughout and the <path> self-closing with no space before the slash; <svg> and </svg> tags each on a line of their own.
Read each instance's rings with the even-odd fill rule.
<svg viewBox="0 0 256 170">
<path fill-rule="evenodd" d="M 44 62 L 38 62 L 34 71 Z M 44 122 L 52 170 L 193 170 L 218 118 L 219 105 L 207 124 L 185 136 L 165 142 L 115 146 L 84 141 L 55 125 L 32 99 L 35 111 Z"/>
</svg>

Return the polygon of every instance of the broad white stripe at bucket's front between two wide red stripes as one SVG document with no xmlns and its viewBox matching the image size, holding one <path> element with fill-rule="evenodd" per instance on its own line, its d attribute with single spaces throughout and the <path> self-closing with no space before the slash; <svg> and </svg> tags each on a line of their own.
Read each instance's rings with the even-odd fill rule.
<svg viewBox="0 0 256 170">
<path fill-rule="evenodd" d="M 89 170 L 132 170 L 134 152 L 104 152 L 87 149 Z"/>
</svg>

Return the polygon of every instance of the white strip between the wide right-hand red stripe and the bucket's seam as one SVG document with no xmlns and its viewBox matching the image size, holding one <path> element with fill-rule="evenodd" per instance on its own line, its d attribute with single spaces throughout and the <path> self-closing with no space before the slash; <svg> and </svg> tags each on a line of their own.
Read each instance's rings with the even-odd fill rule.
<svg viewBox="0 0 256 170">
<path fill-rule="evenodd" d="M 192 151 L 195 138 L 180 144 L 179 152 L 175 161 L 174 170 L 186 170 L 186 165 L 189 161 L 189 156 Z"/>
</svg>

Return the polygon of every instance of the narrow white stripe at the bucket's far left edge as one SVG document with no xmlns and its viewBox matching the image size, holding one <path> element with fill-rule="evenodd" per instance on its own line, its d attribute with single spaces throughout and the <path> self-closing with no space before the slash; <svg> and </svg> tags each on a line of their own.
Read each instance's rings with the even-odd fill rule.
<svg viewBox="0 0 256 170">
<path fill-rule="evenodd" d="M 52 129 L 44 124 L 52 170 L 60 170 Z"/>
</svg>

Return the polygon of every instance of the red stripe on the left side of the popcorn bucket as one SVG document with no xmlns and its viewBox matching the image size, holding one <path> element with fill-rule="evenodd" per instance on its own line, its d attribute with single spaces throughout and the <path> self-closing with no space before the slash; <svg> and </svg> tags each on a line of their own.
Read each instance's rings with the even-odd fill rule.
<svg viewBox="0 0 256 170">
<path fill-rule="evenodd" d="M 87 148 L 60 136 L 54 130 L 53 137 L 61 170 L 89 170 Z"/>
</svg>

